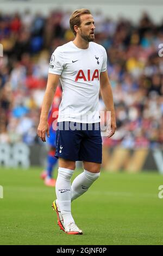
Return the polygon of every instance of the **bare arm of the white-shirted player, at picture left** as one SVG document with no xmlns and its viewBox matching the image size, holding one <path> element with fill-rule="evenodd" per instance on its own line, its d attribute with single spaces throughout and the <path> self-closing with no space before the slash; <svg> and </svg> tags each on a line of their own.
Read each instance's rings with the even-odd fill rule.
<svg viewBox="0 0 163 256">
<path fill-rule="evenodd" d="M 37 128 L 37 135 L 41 138 L 43 142 L 46 142 L 46 132 L 49 136 L 49 126 L 48 126 L 48 113 L 51 108 L 55 90 L 59 84 L 60 75 L 48 74 L 48 81 L 46 92 L 43 97 L 42 109 L 40 115 L 40 123 Z"/>
</svg>

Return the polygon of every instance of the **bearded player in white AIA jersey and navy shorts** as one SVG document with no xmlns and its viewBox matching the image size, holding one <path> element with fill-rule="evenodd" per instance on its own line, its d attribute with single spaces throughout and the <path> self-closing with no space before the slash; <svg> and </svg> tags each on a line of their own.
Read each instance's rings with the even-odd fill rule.
<svg viewBox="0 0 163 256">
<path fill-rule="evenodd" d="M 37 135 L 46 141 L 49 135 L 47 116 L 57 84 L 62 85 L 55 156 L 59 169 L 53 208 L 58 224 L 67 234 L 83 234 L 74 222 L 71 202 L 99 177 L 102 163 L 102 137 L 98 111 L 99 89 L 106 109 L 111 112 L 111 132 L 116 130 L 114 103 L 106 71 L 107 55 L 95 40 L 95 24 L 90 10 L 79 9 L 70 17 L 73 41 L 59 46 L 52 54 L 48 82 Z M 84 171 L 72 182 L 76 161 L 83 161 Z"/>
</svg>

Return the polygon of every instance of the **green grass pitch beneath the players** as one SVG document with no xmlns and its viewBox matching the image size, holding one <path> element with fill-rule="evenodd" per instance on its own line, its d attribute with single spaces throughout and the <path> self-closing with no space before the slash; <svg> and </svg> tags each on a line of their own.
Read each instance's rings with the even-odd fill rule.
<svg viewBox="0 0 163 256">
<path fill-rule="evenodd" d="M 40 168 L 0 169 L 0 245 L 161 245 L 163 185 L 158 173 L 107 173 L 72 203 L 83 235 L 67 235 L 51 205 L 54 188 L 43 185 Z M 79 172 L 76 172 L 76 176 Z M 57 171 L 55 172 L 55 176 Z"/>
</svg>

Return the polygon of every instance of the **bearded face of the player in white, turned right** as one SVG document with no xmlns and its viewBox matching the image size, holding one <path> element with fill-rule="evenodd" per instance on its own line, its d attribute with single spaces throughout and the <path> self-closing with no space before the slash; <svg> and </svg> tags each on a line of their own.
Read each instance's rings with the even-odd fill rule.
<svg viewBox="0 0 163 256">
<path fill-rule="evenodd" d="M 95 40 L 95 25 L 91 14 L 83 14 L 80 16 L 80 27 L 78 34 L 87 42 Z"/>
</svg>

